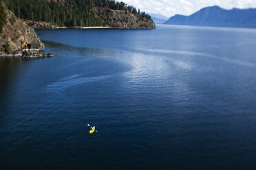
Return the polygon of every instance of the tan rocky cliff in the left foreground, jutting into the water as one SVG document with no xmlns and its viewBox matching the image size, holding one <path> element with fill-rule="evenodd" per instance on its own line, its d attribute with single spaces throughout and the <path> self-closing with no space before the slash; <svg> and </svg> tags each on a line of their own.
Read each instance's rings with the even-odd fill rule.
<svg viewBox="0 0 256 170">
<path fill-rule="evenodd" d="M 0 35 L 0 56 L 45 57 L 44 45 L 34 29 L 6 10 L 7 23 Z"/>
</svg>

